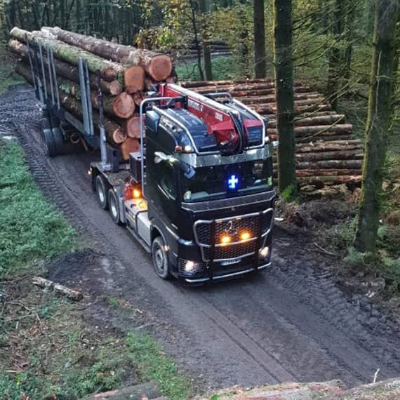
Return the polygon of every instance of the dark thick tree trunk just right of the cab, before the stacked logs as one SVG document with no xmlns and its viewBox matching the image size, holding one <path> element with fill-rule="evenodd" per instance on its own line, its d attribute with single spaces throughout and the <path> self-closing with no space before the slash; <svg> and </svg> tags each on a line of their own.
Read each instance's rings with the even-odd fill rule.
<svg viewBox="0 0 400 400">
<path fill-rule="evenodd" d="M 293 132 L 292 0 L 274 0 L 276 126 L 279 132 L 279 189 L 297 192 Z"/>
</svg>

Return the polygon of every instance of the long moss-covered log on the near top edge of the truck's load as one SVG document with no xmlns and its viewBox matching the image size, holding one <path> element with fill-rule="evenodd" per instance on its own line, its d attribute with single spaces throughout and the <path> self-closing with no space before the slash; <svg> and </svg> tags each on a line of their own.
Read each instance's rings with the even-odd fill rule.
<svg viewBox="0 0 400 400">
<path fill-rule="evenodd" d="M 22 42 L 25 42 L 27 38 L 40 41 L 45 46 L 51 46 L 55 58 L 69 62 L 72 65 L 78 65 L 79 58 L 83 57 L 87 60 L 90 71 L 95 73 L 99 70 L 102 79 L 105 79 L 105 81 L 114 81 L 115 79 L 121 81 L 124 78 L 124 68 L 121 65 L 116 64 L 116 62 L 105 60 L 104 58 L 100 58 L 98 55 L 93 55 L 88 51 L 83 51 L 80 48 L 69 46 L 62 41 L 45 38 L 41 32 L 31 33 L 15 27 L 11 30 L 10 36 Z"/>
</svg>

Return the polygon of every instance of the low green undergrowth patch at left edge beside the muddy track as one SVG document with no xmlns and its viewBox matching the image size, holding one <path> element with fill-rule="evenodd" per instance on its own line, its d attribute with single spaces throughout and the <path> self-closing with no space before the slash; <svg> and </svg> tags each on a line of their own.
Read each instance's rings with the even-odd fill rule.
<svg viewBox="0 0 400 400">
<path fill-rule="evenodd" d="M 0 171 L 1 280 L 77 244 L 74 229 L 36 187 L 18 145 L 0 142 Z"/>
</svg>

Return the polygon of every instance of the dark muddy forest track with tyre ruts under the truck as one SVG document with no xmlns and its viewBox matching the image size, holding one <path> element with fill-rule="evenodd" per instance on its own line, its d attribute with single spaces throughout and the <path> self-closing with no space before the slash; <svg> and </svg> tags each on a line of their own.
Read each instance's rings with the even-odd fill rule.
<svg viewBox="0 0 400 400">
<path fill-rule="evenodd" d="M 86 171 L 96 155 L 44 156 L 32 90 L 14 88 L 0 104 L 0 131 L 19 138 L 46 196 L 89 246 L 112 260 L 85 272 L 85 288 L 145 309 L 147 331 L 194 378 L 220 387 L 336 378 L 356 384 L 371 382 L 378 368 L 380 378 L 399 375 L 396 324 L 347 299 L 293 239 L 276 238 L 273 266 L 258 276 L 201 288 L 158 279 L 140 245 L 95 203 Z M 87 312 L 124 328 L 142 324 L 95 305 Z"/>
</svg>

